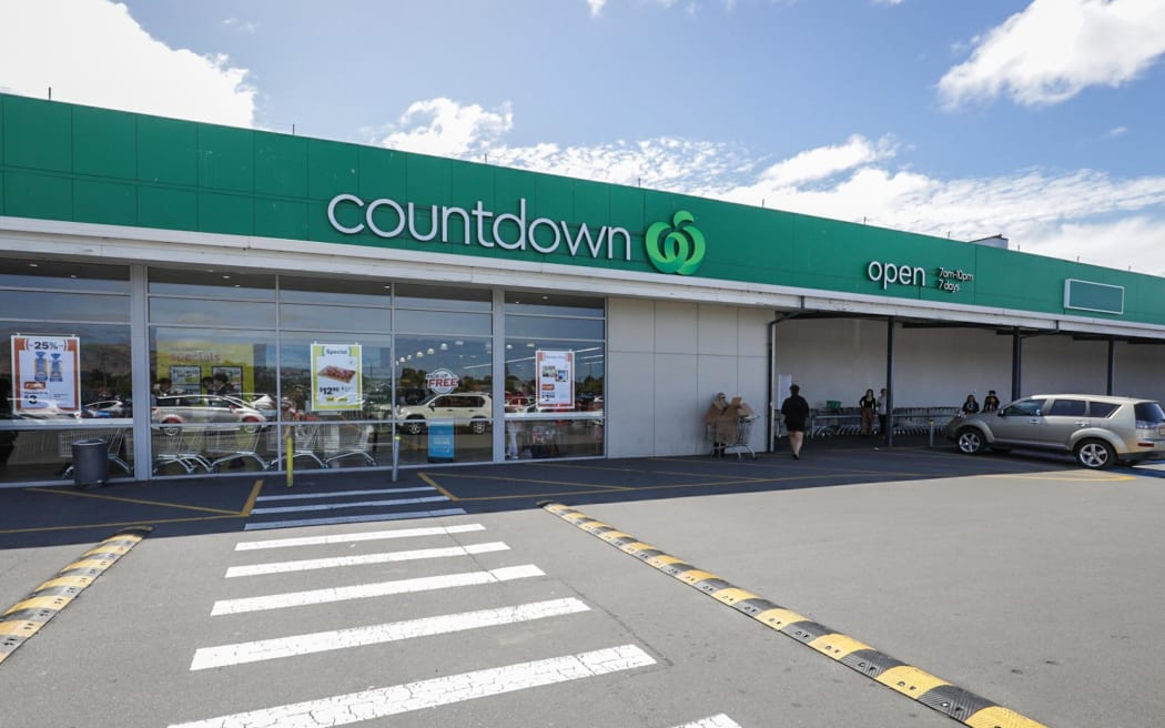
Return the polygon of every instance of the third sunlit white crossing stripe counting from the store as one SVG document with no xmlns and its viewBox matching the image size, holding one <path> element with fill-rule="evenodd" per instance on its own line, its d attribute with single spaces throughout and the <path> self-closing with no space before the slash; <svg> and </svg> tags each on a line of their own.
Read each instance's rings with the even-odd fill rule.
<svg viewBox="0 0 1165 728">
<path fill-rule="evenodd" d="M 511 581 L 514 579 L 528 579 L 530 577 L 542 575 L 545 575 L 545 572 L 541 568 L 534 566 L 532 564 L 524 564 L 522 566 L 504 566 L 502 568 L 494 568 L 490 571 L 469 571 L 459 574 L 444 574 L 440 577 L 397 579 L 395 581 L 358 584 L 355 586 L 311 589 L 308 592 L 288 592 L 284 594 L 269 594 L 267 596 L 226 599 L 214 602 L 214 606 L 211 608 L 211 616 L 242 614 L 243 612 L 264 612 L 267 609 L 283 609 L 285 607 L 305 607 L 308 605 L 326 605 L 331 602 L 347 601 L 350 599 L 388 596 L 389 594 L 431 592 L 435 589 L 447 589 L 458 586 L 497 584 L 500 581 Z"/>
</svg>

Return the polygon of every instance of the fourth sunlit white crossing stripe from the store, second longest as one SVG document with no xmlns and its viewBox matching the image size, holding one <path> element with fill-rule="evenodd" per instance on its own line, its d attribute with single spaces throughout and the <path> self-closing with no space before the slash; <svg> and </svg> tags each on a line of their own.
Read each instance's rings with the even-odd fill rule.
<svg viewBox="0 0 1165 728">
<path fill-rule="evenodd" d="M 531 622 L 534 620 L 587 612 L 588 609 L 589 607 L 574 598 L 551 599 L 546 601 L 518 605 L 516 607 L 499 607 L 495 609 L 464 612 L 461 614 L 446 614 L 436 617 L 390 622 L 387 624 L 374 624 L 370 627 L 353 627 L 348 629 L 295 635 L 292 637 L 280 637 L 276 639 L 241 642 L 238 644 L 226 644 L 217 648 L 203 648 L 198 650 L 195 652 L 195 659 L 190 664 L 190 669 L 206 670 L 207 667 L 257 663 L 264 659 L 278 659 L 281 657 L 294 657 L 296 655 L 312 655 L 315 652 L 326 652 L 329 650 L 343 650 L 347 648 L 365 646 L 368 644 L 397 642 L 400 639 L 410 639 L 412 637 L 445 635 L 479 629 L 482 627 L 497 627 L 500 624 Z"/>
</svg>

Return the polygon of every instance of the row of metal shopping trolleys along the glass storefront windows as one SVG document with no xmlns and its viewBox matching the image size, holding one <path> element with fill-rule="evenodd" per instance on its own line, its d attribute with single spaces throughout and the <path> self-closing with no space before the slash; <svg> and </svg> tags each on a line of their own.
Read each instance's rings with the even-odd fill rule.
<svg viewBox="0 0 1165 728">
<path fill-rule="evenodd" d="M 69 430 L 58 436 L 58 455 L 72 457 L 73 443 L 87 439 L 105 440 L 111 466 L 123 474 L 132 474 L 133 467 L 125 458 L 127 427 Z M 282 433 L 282 434 L 281 434 Z M 235 467 L 254 471 L 278 468 L 290 458 L 296 465 L 320 468 L 350 465 L 376 465 L 372 453 L 373 425 L 348 423 L 311 422 L 290 426 L 290 446 L 285 436 L 288 429 L 239 429 L 205 425 L 154 427 L 151 430 L 153 462 L 155 475 L 218 473 Z M 72 464 L 65 466 L 62 476 L 72 478 Z"/>
</svg>

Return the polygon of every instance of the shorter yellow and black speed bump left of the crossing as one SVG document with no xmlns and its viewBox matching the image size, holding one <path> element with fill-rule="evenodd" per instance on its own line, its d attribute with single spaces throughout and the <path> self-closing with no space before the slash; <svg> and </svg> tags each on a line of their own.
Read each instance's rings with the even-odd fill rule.
<svg viewBox="0 0 1165 728">
<path fill-rule="evenodd" d="M 22 601 L 0 614 L 0 663 L 41 630 L 82 589 L 93 584 L 105 570 L 113 566 L 130 549 L 146 538 L 149 526 L 120 531 L 90 549 L 72 564 L 57 572 Z"/>
</svg>

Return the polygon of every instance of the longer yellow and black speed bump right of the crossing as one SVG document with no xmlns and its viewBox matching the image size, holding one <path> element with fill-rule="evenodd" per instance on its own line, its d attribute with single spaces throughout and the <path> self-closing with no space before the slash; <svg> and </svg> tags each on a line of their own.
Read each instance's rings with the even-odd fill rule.
<svg viewBox="0 0 1165 728">
<path fill-rule="evenodd" d="M 1046 728 L 1043 723 L 1025 718 L 1010 708 L 1004 708 L 982 695 L 956 687 L 853 637 L 775 605 L 757 594 L 737 588 L 715 574 L 669 556 L 655 546 L 569 506 L 552 502 L 539 503 L 539 506 L 621 551 L 707 593 L 716 601 L 728 605 L 765 627 L 807 644 L 842 665 L 972 728 Z"/>
</svg>

